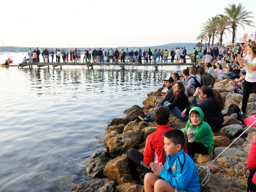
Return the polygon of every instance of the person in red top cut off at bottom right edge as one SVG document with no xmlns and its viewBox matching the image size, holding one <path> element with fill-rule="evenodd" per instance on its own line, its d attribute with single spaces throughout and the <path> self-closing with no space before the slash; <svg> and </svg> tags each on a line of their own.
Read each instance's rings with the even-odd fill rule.
<svg viewBox="0 0 256 192">
<path fill-rule="evenodd" d="M 247 181 L 248 190 L 250 192 L 256 192 L 256 137 L 254 138 L 249 152 L 247 166 L 250 169 L 250 174 Z"/>
</svg>

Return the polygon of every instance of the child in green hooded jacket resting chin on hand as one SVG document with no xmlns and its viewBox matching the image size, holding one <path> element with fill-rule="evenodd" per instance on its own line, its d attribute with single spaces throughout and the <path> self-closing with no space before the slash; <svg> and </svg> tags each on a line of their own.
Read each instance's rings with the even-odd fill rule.
<svg viewBox="0 0 256 192">
<path fill-rule="evenodd" d="M 211 127 L 203 121 L 204 114 L 199 107 L 192 107 L 189 114 L 189 121 L 184 129 L 188 138 L 188 154 L 209 154 L 213 150 L 213 134 Z"/>
</svg>

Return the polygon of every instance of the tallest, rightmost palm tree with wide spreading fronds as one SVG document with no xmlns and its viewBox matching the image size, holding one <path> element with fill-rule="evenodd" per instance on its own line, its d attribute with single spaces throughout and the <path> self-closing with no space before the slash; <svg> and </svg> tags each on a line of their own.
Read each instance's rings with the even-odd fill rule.
<svg viewBox="0 0 256 192">
<path fill-rule="evenodd" d="M 228 25 L 232 28 L 232 43 L 235 42 L 235 34 L 236 27 L 240 25 L 244 29 L 244 25 L 248 25 L 250 27 L 255 27 L 254 22 L 252 20 L 248 20 L 249 18 L 254 18 L 250 14 L 253 12 L 248 12 L 244 10 L 244 6 L 239 3 L 236 4 L 228 4 L 229 7 L 224 8 L 224 14 L 227 18 Z"/>
</svg>

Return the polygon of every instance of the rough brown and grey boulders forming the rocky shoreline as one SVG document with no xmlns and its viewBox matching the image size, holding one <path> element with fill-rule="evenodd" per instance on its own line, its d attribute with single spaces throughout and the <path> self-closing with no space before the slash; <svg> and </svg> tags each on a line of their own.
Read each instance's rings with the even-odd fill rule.
<svg viewBox="0 0 256 192">
<path fill-rule="evenodd" d="M 223 114 L 226 113 L 231 103 L 237 104 L 239 107 L 242 105 L 243 96 L 234 94 L 232 84 L 232 80 L 224 79 L 220 82 L 216 80 L 214 85 L 214 89 L 219 91 L 224 98 Z M 112 119 L 105 130 L 106 151 L 99 151 L 86 164 L 87 174 L 93 179 L 75 185 L 70 192 L 143 192 L 142 171 L 140 171 L 142 182 L 140 185 L 123 181 L 124 175 L 128 174 L 126 152 L 130 148 L 136 148 L 143 153 L 147 136 L 156 131 L 157 124 L 155 122 L 151 125 L 144 124 L 138 116 L 145 116 L 153 110 L 156 100 L 161 97 L 161 89 L 148 94 L 147 99 L 142 102 L 143 108 L 134 105 L 124 111 L 127 114 L 126 117 Z M 246 117 L 256 114 L 256 94 L 250 95 L 247 114 Z M 225 118 L 223 128 L 218 132 L 213 132 L 214 154 L 196 155 L 194 162 L 197 168 L 209 164 L 247 128 L 236 118 L 236 114 Z M 171 122 L 172 128 L 183 128 L 187 123 L 181 122 L 175 117 L 171 118 Z M 249 176 L 246 162 L 255 136 L 256 127 L 252 127 L 209 165 L 210 179 L 206 185 L 201 186 L 201 192 L 246 191 Z M 205 177 L 206 171 L 204 170 L 199 174 L 200 183 Z"/>
</svg>

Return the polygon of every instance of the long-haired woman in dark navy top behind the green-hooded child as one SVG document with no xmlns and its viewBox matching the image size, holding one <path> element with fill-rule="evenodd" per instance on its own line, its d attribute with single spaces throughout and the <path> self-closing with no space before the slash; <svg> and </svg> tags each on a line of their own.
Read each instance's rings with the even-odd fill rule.
<svg viewBox="0 0 256 192">
<path fill-rule="evenodd" d="M 203 101 L 197 104 L 196 96 L 198 96 L 199 99 L 203 99 Z M 212 131 L 218 131 L 222 128 L 224 122 L 222 114 L 224 100 L 217 90 L 210 89 L 207 86 L 196 88 L 191 106 L 184 109 L 182 116 L 188 114 L 192 107 L 199 107 L 203 111 L 203 120 L 209 124 Z"/>
</svg>

